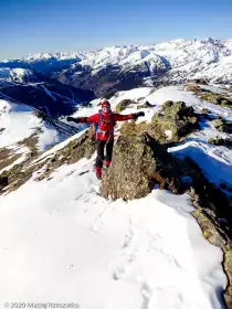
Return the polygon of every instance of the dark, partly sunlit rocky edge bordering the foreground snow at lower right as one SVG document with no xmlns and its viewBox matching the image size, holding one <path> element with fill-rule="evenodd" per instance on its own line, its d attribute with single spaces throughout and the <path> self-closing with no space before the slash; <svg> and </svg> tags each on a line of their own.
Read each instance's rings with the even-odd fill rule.
<svg viewBox="0 0 232 309">
<path fill-rule="evenodd" d="M 226 188 L 221 189 L 211 183 L 190 158 L 184 161 L 192 177 L 192 185 L 187 191 L 197 209 L 192 215 L 203 236 L 224 253 L 222 264 L 228 276 L 228 287 L 223 296 L 226 307 L 232 309 L 232 200 L 223 191 Z"/>
</svg>

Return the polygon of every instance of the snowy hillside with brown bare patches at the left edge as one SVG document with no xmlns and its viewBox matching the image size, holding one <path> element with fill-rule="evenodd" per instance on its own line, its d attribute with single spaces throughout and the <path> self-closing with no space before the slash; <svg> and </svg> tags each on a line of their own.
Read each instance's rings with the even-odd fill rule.
<svg viewBox="0 0 232 309">
<path fill-rule="evenodd" d="M 38 118 L 34 109 L 0 99 L 0 172 L 61 140 L 60 134 Z"/>
</svg>

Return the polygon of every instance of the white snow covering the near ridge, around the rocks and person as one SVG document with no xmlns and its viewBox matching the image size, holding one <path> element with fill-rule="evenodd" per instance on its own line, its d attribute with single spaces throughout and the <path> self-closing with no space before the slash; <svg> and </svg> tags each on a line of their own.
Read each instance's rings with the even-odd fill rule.
<svg viewBox="0 0 232 309">
<path fill-rule="evenodd" d="M 139 109 L 147 121 L 168 99 L 232 120 L 230 109 L 181 86 L 119 92 L 110 98 L 113 108 L 127 98 L 134 104 L 123 114 L 150 103 Z M 75 116 L 97 113 L 99 102 Z M 81 135 L 32 161 L 30 168 L 38 161 L 44 167 L 17 191 L 0 196 L 0 301 L 74 302 L 83 309 L 225 308 L 223 255 L 203 238 L 188 195 L 155 188 L 135 201 L 105 200 L 93 170 L 95 154 L 61 166 L 49 181 L 36 181 L 46 159 Z M 191 157 L 211 181 L 232 185 L 232 149 L 210 145 L 215 135 L 230 137 L 203 121 L 201 130 L 169 151 Z"/>
</svg>

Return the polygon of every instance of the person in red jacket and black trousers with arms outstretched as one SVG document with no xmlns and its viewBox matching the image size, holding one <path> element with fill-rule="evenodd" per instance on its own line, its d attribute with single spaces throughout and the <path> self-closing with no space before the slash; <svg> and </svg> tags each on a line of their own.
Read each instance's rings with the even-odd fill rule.
<svg viewBox="0 0 232 309">
<path fill-rule="evenodd" d="M 134 113 L 129 115 L 114 114 L 110 109 L 110 103 L 104 100 L 102 103 L 102 109 L 98 114 L 89 117 L 67 117 L 67 121 L 74 122 L 93 122 L 95 128 L 95 137 L 97 141 L 97 157 L 96 157 L 96 177 L 102 179 L 102 168 L 104 161 L 104 149 L 106 148 L 105 166 L 108 168 L 112 163 L 112 152 L 114 148 L 114 127 L 116 121 L 125 121 L 130 119 L 137 119 L 145 116 L 144 111 Z"/>
</svg>

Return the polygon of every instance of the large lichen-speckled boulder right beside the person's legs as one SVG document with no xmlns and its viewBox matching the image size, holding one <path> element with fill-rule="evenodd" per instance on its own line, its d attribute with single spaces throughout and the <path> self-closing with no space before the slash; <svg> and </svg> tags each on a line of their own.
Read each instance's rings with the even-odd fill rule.
<svg viewBox="0 0 232 309">
<path fill-rule="evenodd" d="M 117 140 L 113 163 L 103 171 L 102 194 L 131 200 L 151 192 L 156 182 L 180 192 L 181 172 L 167 150 L 148 134 L 126 136 Z"/>
</svg>

